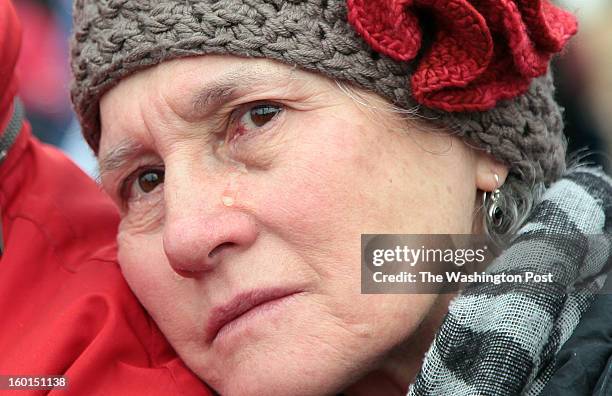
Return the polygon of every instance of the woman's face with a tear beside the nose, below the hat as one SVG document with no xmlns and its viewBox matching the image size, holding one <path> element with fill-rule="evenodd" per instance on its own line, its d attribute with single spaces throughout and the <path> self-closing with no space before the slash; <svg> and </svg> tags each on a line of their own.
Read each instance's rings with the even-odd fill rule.
<svg viewBox="0 0 612 396">
<path fill-rule="evenodd" d="M 361 294 L 360 235 L 470 233 L 480 160 L 460 140 L 227 56 L 121 81 L 101 122 L 125 277 L 217 391 L 333 393 L 417 345 L 437 296 Z"/>
</svg>

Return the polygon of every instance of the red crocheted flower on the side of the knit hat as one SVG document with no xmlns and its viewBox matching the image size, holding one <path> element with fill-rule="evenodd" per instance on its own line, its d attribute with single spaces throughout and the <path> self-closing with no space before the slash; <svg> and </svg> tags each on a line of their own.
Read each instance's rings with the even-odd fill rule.
<svg viewBox="0 0 612 396">
<path fill-rule="evenodd" d="M 415 99 L 445 111 L 488 110 L 527 91 L 576 34 L 574 16 L 548 0 L 347 0 L 349 22 L 377 52 L 410 61 L 418 15 L 435 37 L 412 76 Z"/>
</svg>

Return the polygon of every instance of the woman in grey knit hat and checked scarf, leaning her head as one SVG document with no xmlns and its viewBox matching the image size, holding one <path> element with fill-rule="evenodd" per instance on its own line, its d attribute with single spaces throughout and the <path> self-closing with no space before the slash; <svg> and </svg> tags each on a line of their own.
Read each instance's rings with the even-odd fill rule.
<svg viewBox="0 0 612 396">
<path fill-rule="evenodd" d="M 546 0 L 77 0 L 73 100 L 124 276 L 223 395 L 538 393 L 601 278 L 449 311 L 361 294 L 360 235 L 602 233 L 604 176 L 552 184 L 547 69 L 575 32 Z"/>
</svg>

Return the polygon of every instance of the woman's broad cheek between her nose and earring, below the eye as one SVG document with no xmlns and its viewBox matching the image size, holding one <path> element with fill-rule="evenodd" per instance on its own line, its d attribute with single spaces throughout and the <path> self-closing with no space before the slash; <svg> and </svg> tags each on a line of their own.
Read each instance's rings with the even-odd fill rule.
<svg viewBox="0 0 612 396">
<path fill-rule="evenodd" d="M 365 233 L 470 232 L 475 182 L 458 143 L 449 151 L 448 138 L 418 142 L 368 121 L 305 124 L 299 144 L 242 194 L 283 238 L 323 248 L 355 246 Z"/>
</svg>

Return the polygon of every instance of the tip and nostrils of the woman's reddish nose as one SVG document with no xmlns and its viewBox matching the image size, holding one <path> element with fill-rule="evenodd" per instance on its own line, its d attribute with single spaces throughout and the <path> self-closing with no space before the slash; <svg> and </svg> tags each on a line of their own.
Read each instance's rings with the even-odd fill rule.
<svg viewBox="0 0 612 396">
<path fill-rule="evenodd" d="M 166 257 L 181 276 L 198 277 L 257 239 L 257 227 L 246 213 L 224 207 L 208 213 L 182 212 L 168 216 L 166 210 L 163 236 Z"/>
</svg>

